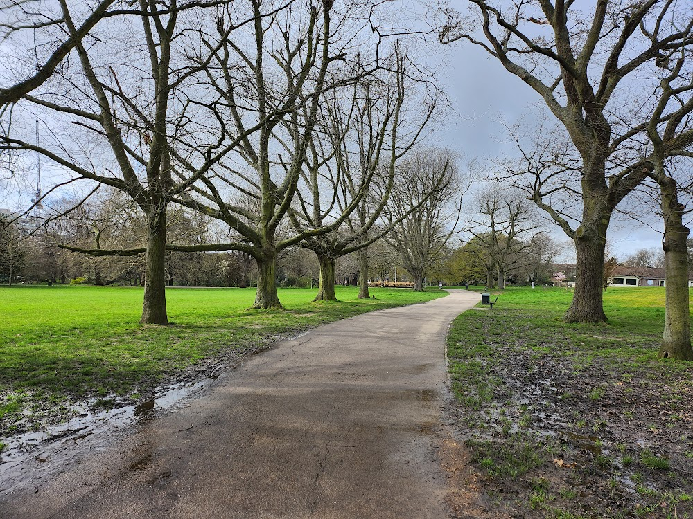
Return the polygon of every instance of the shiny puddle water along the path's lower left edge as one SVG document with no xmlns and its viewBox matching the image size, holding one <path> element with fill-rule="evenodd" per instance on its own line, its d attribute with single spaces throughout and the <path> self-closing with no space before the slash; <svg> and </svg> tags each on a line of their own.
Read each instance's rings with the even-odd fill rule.
<svg viewBox="0 0 693 519">
<path fill-rule="evenodd" d="M 165 411 L 192 397 L 211 382 L 211 379 L 203 379 L 189 385 L 169 385 L 161 388 L 154 399 L 112 410 L 92 410 L 96 399 L 91 399 L 73 406 L 76 417 L 64 424 L 3 439 L 6 448 L 0 454 L 0 498 L 28 482 L 40 485 L 44 478 L 63 468 L 76 455 L 87 449 L 105 449 L 126 430 L 146 424 L 158 411 Z M 135 462 L 131 468 L 138 470 L 134 465 L 139 466 L 143 459 Z M 150 461 L 147 459 L 146 464 Z M 146 464 L 139 468 L 144 468 Z"/>
</svg>

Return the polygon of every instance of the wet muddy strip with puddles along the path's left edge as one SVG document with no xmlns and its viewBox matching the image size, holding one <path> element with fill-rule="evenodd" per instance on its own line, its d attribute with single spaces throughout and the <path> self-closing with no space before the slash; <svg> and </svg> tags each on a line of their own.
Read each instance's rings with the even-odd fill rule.
<svg viewBox="0 0 693 519">
<path fill-rule="evenodd" d="M 134 395 L 91 397 L 65 401 L 60 406 L 46 402 L 45 410 L 33 409 L 26 419 L 13 424 L 14 434 L 6 432 L 0 442 L 0 498 L 28 482 L 40 489 L 44 480 L 64 470 L 66 464 L 75 462 L 82 454 L 103 449 L 133 428 L 186 405 L 206 393 L 225 371 L 292 336 L 268 336 L 265 342 L 253 347 L 229 349 L 173 374 L 164 383 L 142 381 Z M 143 471 L 152 460 L 150 454 L 143 454 L 133 460 L 130 469 Z"/>
</svg>

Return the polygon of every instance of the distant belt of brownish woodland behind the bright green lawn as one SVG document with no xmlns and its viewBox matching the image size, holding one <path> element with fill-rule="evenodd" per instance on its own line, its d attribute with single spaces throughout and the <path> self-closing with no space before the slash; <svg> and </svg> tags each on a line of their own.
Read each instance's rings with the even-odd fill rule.
<svg viewBox="0 0 693 519">
<path fill-rule="evenodd" d="M 110 197 L 94 197 L 80 208 L 55 218 L 40 228 L 37 219 L 12 222 L 5 217 L 0 233 L 0 282 L 48 281 L 69 283 L 85 280 L 89 284 L 146 284 L 146 262 L 143 255 L 95 257 L 60 248 L 102 247 L 117 249 L 137 246 L 143 241 L 146 220 L 137 206 L 117 191 Z M 71 203 L 65 203 L 70 206 Z M 15 215 L 16 216 L 16 215 Z M 220 239 L 220 226 L 198 212 L 173 206 L 168 214 L 167 234 L 177 242 L 208 244 Z M 335 265 L 335 282 L 358 282 L 361 255 L 364 251 L 342 255 Z M 369 246 L 367 268 L 377 279 L 385 279 L 400 268 L 398 253 L 383 240 Z M 166 252 L 167 286 L 255 286 L 258 274 L 254 258 L 240 251 Z M 317 255 L 308 248 L 293 246 L 277 258 L 275 282 L 281 286 L 313 286 L 319 278 Z M 365 283 L 374 280 L 368 276 Z M 362 286 L 362 284 L 360 284 Z M 362 286 L 363 288 L 363 286 Z"/>
</svg>

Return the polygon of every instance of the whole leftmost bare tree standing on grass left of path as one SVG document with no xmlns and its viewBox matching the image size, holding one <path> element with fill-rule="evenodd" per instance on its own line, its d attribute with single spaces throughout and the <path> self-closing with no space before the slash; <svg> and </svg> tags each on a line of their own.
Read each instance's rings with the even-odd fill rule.
<svg viewBox="0 0 693 519">
<path fill-rule="evenodd" d="M 0 137 L 4 149 L 39 152 L 74 179 L 121 190 L 141 208 L 147 219 L 146 248 L 73 250 L 95 256 L 146 252 L 143 324 L 168 324 L 165 253 L 170 197 L 188 189 L 245 137 L 228 136 L 219 122 L 216 128 L 200 125 L 200 119 L 209 120 L 209 113 L 201 115 L 207 109 L 197 101 L 200 93 L 191 91 L 191 84 L 198 82 L 195 74 L 207 62 L 188 55 L 186 46 L 195 44 L 195 33 L 188 28 L 197 18 L 186 16 L 193 16 L 191 11 L 202 15 L 205 5 L 218 3 L 179 6 L 177 1 L 164 5 L 141 0 L 137 20 L 129 15 L 117 20 L 119 37 L 112 32 L 103 38 L 90 35 L 89 45 L 78 38 L 79 29 L 66 11 L 64 24 L 77 39 L 78 64 L 54 74 L 44 91 L 24 95 L 22 102 L 23 110 L 43 111 L 42 118 L 53 120 L 51 138 L 30 143 L 25 128 L 11 117 Z M 186 179 L 175 181 L 174 171 L 191 169 Z"/>
</svg>

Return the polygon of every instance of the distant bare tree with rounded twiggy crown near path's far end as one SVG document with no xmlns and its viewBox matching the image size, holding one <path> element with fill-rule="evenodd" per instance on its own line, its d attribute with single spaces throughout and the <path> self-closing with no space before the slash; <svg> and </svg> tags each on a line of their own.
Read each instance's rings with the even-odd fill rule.
<svg viewBox="0 0 693 519">
<path fill-rule="evenodd" d="M 398 223 L 385 240 L 414 278 L 415 291 L 423 290 L 426 268 L 457 230 L 464 192 L 457 157 L 448 149 L 423 149 L 397 166 L 392 203 L 385 206 L 383 217 L 387 224 Z"/>
</svg>

